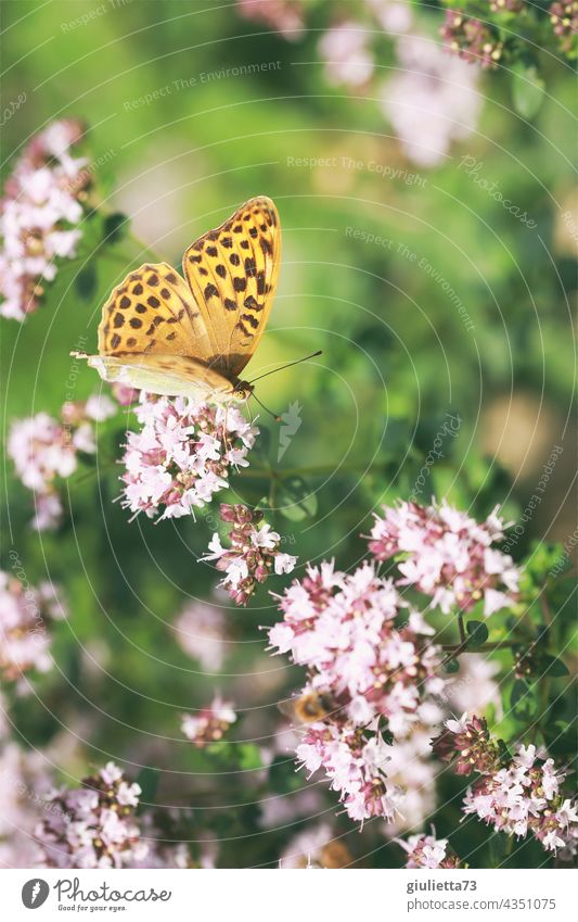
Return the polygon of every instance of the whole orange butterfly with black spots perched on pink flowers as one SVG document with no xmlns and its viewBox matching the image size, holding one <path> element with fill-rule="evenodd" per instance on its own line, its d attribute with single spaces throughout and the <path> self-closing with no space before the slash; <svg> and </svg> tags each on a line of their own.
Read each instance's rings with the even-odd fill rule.
<svg viewBox="0 0 578 922">
<path fill-rule="evenodd" d="M 149 393 L 245 400 L 253 387 L 239 376 L 267 325 L 280 261 L 277 209 L 249 199 L 187 250 L 185 278 L 168 263 L 129 273 L 103 307 L 99 354 L 73 354 Z"/>
</svg>

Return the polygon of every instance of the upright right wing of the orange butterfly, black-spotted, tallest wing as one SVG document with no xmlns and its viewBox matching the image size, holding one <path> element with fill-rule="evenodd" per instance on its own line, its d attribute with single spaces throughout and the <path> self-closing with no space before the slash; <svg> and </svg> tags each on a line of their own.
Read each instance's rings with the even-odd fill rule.
<svg viewBox="0 0 578 922">
<path fill-rule="evenodd" d="M 249 199 L 187 250 L 183 269 L 201 311 L 210 363 L 236 377 L 262 336 L 281 263 L 281 228 L 271 199 Z"/>
</svg>

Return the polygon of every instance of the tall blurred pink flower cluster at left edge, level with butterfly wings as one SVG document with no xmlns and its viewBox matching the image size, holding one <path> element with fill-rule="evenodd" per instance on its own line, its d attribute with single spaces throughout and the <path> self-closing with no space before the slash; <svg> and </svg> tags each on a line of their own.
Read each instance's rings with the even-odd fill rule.
<svg viewBox="0 0 578 922">
<path fill-rule="evenodd" d="M 36 311 L 56 257 L 72 258 L 80 239 L 84 189 L 90 174 L 72 148 L 79 122 L 54 122 L 28 144 L 0 202 L 0 314 L 23 320 Z"/>
</svg>

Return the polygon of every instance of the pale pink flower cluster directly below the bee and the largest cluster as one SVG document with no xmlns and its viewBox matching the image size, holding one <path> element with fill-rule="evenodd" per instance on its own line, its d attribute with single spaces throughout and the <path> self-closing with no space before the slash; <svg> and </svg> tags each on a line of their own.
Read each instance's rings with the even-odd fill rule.
<svg viewBox="0 0 578 922">
<path fill-rule="evenodd" d="M 323 768 L 348 816 L 363 823 L 372 817 L 394 818 L 402 792 L 387 786 L 389 746 L 380 733 L 346 722 L 316 722 L 297 746 L 298 761 L 313 774 Z"/>
</svg>

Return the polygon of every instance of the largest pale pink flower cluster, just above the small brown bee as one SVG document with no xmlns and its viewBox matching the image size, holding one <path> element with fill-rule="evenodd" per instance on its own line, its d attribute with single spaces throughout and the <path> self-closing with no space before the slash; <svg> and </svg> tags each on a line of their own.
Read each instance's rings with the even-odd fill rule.
<svg viewBox="0 0 578 922">
<path fill-rule="evenodd" d="M 280 608 L 284 618 L 269 631 L 271 646 L 307 666 L 311 687 L 331 694 L 357 724 L 386 716 L 402 736 L 423 698 L 444 685 L 435 674 L 439 651 L 426 642 L 433 630 L 372 564 L 350 574 L 330 563 L 308 567 Z"/>
</svg>

